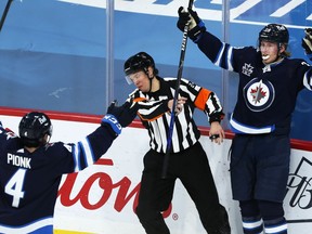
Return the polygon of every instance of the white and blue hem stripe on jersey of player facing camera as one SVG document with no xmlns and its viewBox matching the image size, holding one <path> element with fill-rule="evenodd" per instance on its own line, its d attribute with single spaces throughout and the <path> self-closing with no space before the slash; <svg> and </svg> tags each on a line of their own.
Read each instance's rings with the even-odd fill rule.
<svg viewBox="0 0 312 234">
<path fill-rule="evenodd" d="M 233 119 L 233 115 L 230 119 L 231 129 L 234 133 L 240 133 L 240 134 L 263 134 L 263 133 L 270 133 L 275 130 L 275 126 L 266 126 L 262 128 L 255 128 L 252 126 L 246 126 L 243 125 L 235 119 Z"/>
</svg>

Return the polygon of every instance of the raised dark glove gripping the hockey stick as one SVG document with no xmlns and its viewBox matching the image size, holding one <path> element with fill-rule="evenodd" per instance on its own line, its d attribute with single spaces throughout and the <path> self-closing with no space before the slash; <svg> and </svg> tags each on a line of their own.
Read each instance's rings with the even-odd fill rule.
<svg viewBox="0 0 312 234">
<path fill-rule="evenodd" d="M 188 24 L 187 36 L 196 43 L 202 37 L 203 32 L 206 31 L 206 27 L 204 22 L 198 17 L 197 12 L 192 9 L 187 9 L 188 12 L 185 11 L 183 6 L 180 6 L 178 10 L 179 20 L 177 23 L 177 27 L 184 31 L 184 27 Z"/>
</svg>

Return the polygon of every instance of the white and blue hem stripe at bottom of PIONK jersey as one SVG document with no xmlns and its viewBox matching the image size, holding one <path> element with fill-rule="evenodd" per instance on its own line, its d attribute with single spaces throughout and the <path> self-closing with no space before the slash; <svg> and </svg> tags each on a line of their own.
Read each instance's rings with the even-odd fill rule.
<svg viewBox="0 0 312 234">
<path fill-rule="evenodd" d="M 40 230 L 40 231 L 39 231 Z M 37 232 L 36 232 L 37 231 Z M 21 233 L 37 233 L 37 234 L 52 234 L 53 233 L 53 218 L 46 218 L 37 222 L 23 226 L 8 226 L 0 224 L 0 233 L 21 234 Z"/>
</svg>

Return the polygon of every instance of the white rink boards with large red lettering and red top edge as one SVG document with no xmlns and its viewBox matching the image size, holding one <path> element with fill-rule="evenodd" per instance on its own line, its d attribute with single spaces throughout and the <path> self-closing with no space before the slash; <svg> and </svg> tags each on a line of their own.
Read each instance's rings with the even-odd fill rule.
<svg viewBox="0 0 312 234">
<path fill-rule="evenodd" d="M 4 127 L 17 132 L 22 113 L 17 110 L 8 114 L 8 110 L 0 109 L 0 120 Z M 51 142 L 79 141 L 95 130 L 101 121 L 100 116 L 48 114 L 53 125 Z M 232 233 L 239 234 L 240 216 L 238 204 L 232 200 L 229 174 L 231 138 L 222 145 L 212 144 L 207 136 L 207 129 L 203 129 L 200 142 L 207 152 L 221 203 L 229 211 Z M 55 233 L 144 234 L 134 208 L 138 204 L 143 156 L 147 150 L 147 131 L 134 121 L 122 130 L 96 165 L 79 173 L 64 176 L 55 206 Z M 285 198 L 289 233 L 308 234 L 311 231 L 311 147 L 307 145 L 306 151 L 292 148 Z M 206 233 L 193 202 L 179 180 L 171 206 L 162 216 L 172 234 Z"/>
</svg>

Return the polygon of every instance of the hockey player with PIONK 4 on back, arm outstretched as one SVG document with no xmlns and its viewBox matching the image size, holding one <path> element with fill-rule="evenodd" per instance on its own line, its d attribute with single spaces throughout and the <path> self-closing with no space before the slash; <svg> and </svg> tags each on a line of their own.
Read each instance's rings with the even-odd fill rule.
<svg viewBox="0 0 312 234">
<path fill-rule="evenodd" d="M 108 108 L 101 126 L 78 143 L 49 143 L 44 113 L 26 114 L 20 138 L 0 125 L 0 233 L 52 234 L 63 174 L 93 165 L 135 117 L 135 108 Z"/>
</svg>

